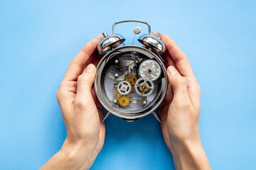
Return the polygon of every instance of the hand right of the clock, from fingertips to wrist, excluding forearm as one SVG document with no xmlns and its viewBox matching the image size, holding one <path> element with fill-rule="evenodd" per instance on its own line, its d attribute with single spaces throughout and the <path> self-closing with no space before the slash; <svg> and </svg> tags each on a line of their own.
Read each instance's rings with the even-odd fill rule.
<svg viewBox="0 0 256 170">
<path fill-rule="evenodd" d="M 167 35 L 161 35 L 161 40 L 167 48 L 169 88 L 159 109 L 164 139 L 172 149 L 174 142 L 199 138 L 201 89 L 184 52 Z"/>
</svg>

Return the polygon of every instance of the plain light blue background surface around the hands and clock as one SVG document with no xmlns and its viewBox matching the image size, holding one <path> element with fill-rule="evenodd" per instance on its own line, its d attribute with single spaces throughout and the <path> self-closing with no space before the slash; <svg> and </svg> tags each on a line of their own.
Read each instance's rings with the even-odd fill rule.
<svg viewBox="0 0 256 170">
<path fill-rule="evenodd" d="M 256 1 L 2 1 L 0 165 L 38 169 L 58 152 L 65 126 L 55 91 L 80 48 L 134 18 L 186 52 L 201 84 L 200 132 L 213 169 L 256 169 Z M 134 26 L 117 33 L 132 41 Z M 92 169 L 174 169 L 153 115 L 110 115 Z"/>
</svg>

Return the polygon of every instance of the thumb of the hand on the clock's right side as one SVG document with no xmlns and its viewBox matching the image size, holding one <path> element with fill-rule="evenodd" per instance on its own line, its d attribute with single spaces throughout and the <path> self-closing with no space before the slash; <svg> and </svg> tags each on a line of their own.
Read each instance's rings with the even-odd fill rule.
<svg viewBox="0 0 256 170">
<path fill-rule="evenodd" d="M 171 84 L 171 89 L 174 93 L 174 99 L 172 102 L 180 106 L 186 101 L 190 101 L 186 78 L 182 77 L 181 74 L 178 73 L 177 69 L 173 66 L 168 67 L 167 76 L 169 84 Z"/>
</svg>

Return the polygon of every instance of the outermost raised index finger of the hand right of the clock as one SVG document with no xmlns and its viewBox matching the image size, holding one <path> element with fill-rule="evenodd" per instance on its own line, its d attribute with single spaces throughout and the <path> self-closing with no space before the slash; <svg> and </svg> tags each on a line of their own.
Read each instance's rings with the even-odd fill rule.
<svg viewBox="0 0 256 170">
<path fill-rule="evenodd" d="M 174 40 L 171 40 L 171 38 L 165 34 L 161 35 L 161 40 L 164 42 L 164 45 L 166 45 L 166 52 L 169 52 L 171 58 L 174 60 L 178 72 L 180 72 L 183 77 L 194 78 L 188 57 L 186 57 L 185 53 L 176 45 Z"/>
</svg>

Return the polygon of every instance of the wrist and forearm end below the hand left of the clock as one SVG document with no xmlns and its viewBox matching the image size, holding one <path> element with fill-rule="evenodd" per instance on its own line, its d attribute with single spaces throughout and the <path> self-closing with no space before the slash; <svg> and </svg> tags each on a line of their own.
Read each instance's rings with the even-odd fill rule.
<svg viewBox="0 0 256 170">
<path fill-rule="evenodd" d="M 44 169 L 90 169 L 94 162 L 93 148 L 87 148 L 82 143 L 70 144 L 64 142 L 63 147 L 46 164 Z"/>
</svg>

